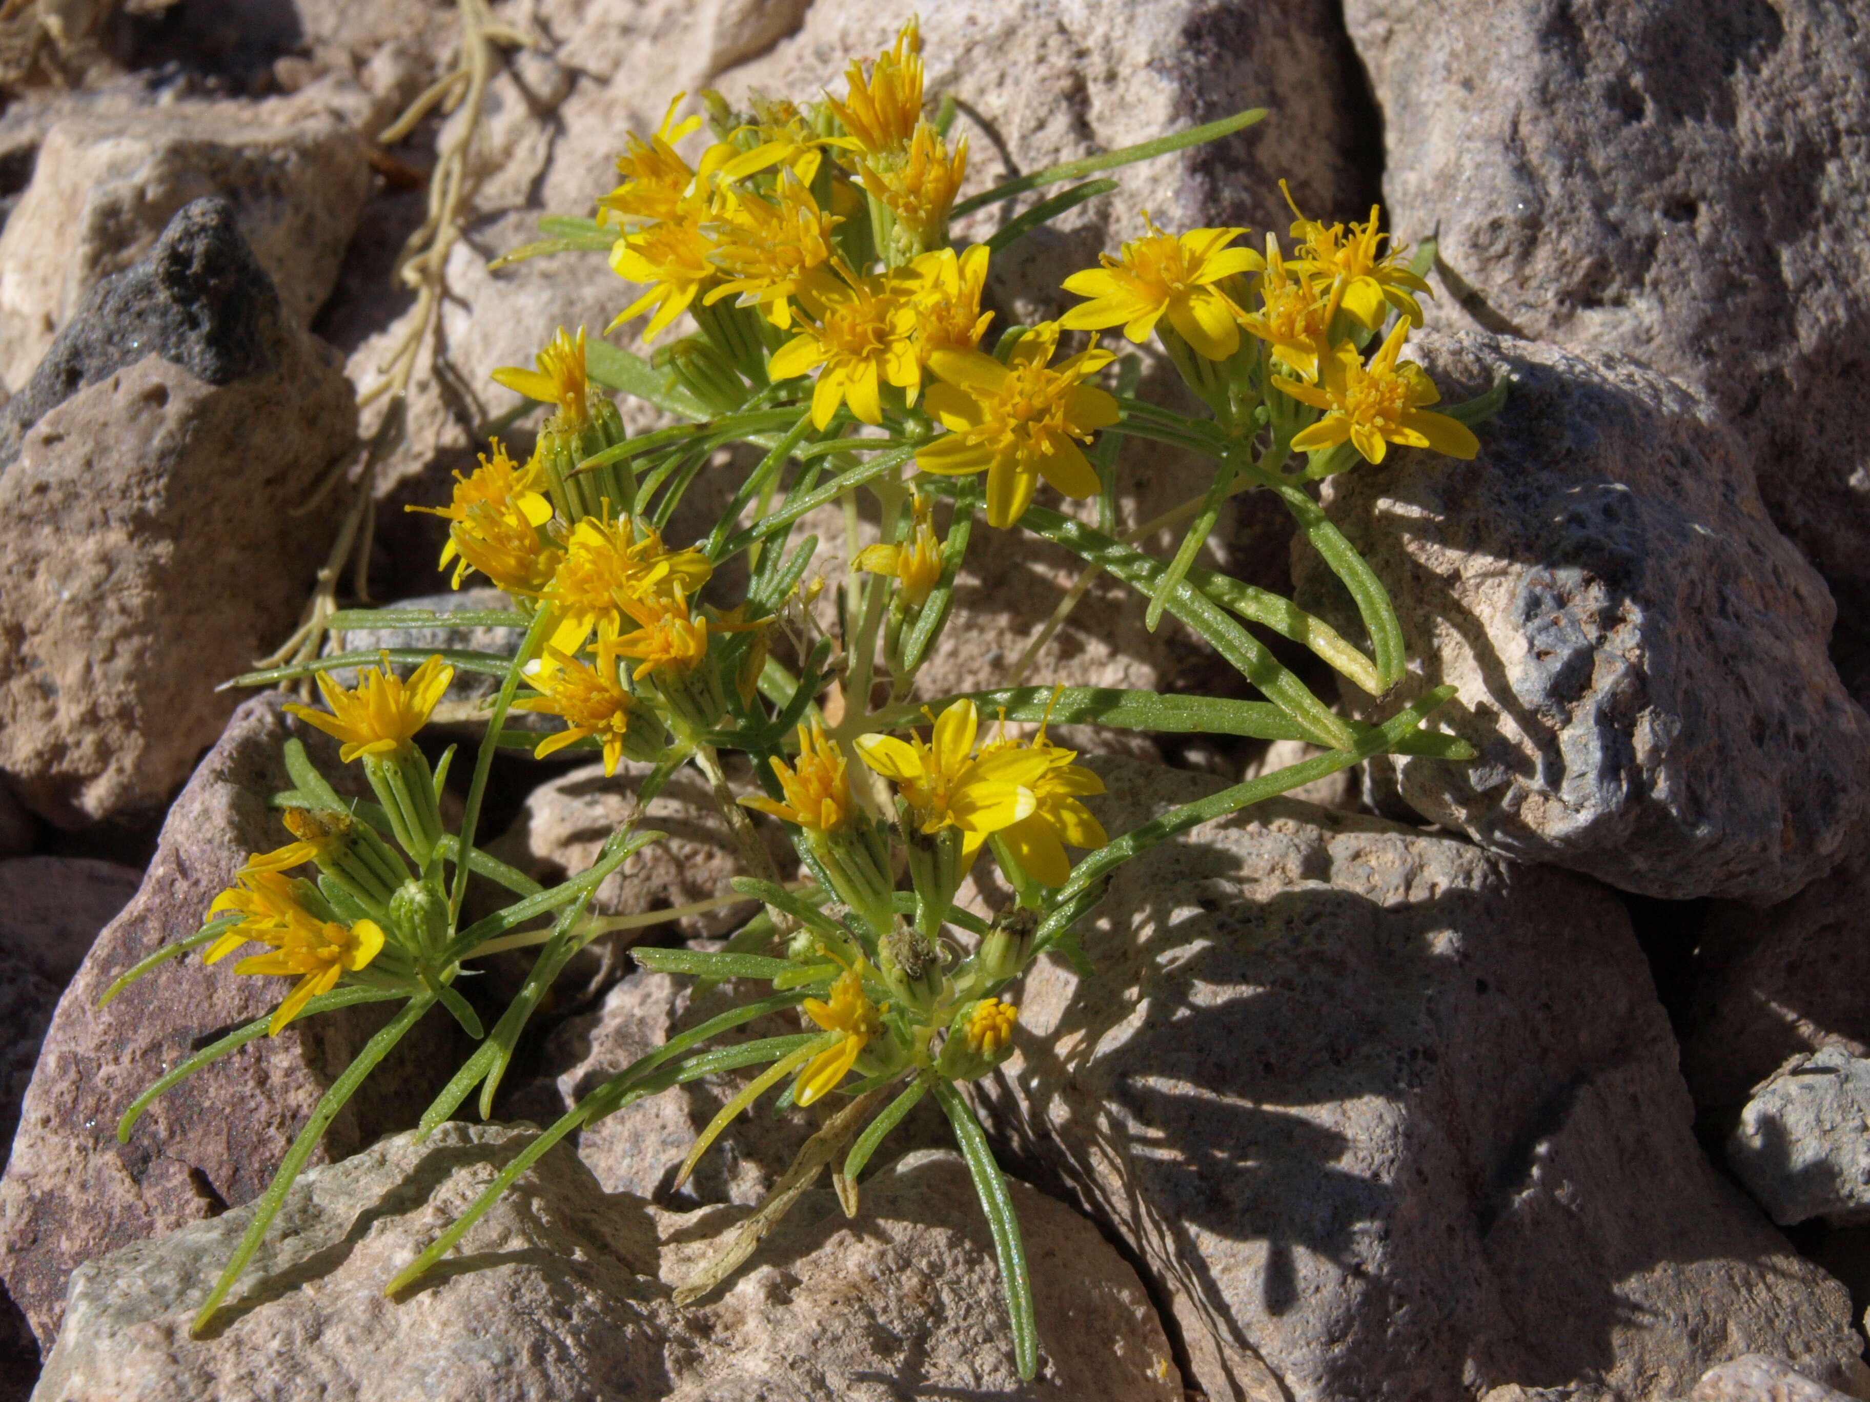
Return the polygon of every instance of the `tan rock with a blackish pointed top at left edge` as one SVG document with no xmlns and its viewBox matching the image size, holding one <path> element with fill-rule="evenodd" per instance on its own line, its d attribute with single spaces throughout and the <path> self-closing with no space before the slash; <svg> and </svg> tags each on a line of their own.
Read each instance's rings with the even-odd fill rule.
<svg viewBox="0 0 1870 1402">
<path fill-rule="evenodd" d="M 64 828 L 166 802 L 234 708 L 215 686 L 292 630 L 333 529 L 292 507 L 350 449 L 352 387 L 228 221 L 191 206 L 94 295 L 49 361 L 95 383 L 0 475 L 0 512 L 32 522 L 0 536 L 0 772 Z"/>
</svg>

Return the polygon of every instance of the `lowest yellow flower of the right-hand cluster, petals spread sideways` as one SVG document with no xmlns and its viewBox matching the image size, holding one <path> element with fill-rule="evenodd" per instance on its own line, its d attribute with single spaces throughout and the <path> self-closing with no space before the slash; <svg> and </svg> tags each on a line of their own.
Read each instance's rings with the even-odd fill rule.
<svg viewBox="0 0 1870 1402">
<path fill-rule="evenodd" d="M 1300 452 L 1330 449 L 1346 437 L 1369 462 L 1382 462 L 1386 443 L 1408 449 L 1434 449 L 1449 458 L 1472 458 L 1481 451 L 1472 430 L 1446 413 L 1425 413 L 1423 404 L 1442 398 L 1434 381 L 1414 361 L 1397 365 L 1408 322 L 1399 320 L 1369 365 L 1348 342 L 1324 357 L 1324 379 L 1302 385 L 1273 378 L 1287 394 L 1324 409 L 1324 417 L 1294 436 Z"/>
</svg>

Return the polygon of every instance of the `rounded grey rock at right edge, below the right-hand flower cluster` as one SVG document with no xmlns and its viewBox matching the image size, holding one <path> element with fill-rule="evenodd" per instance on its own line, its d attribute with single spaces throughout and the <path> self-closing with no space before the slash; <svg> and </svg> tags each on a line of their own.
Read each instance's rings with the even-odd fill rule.
<svg viewBox="0 0 1870 1402">
<path fill-rule="evenodd" d="M 1423 335 L 1447 400 L 1511 374 L 1481 454 L 1397 452 L 1324 501 L 1402 621 L 1440 723 L 1479 757 L 1382 761 L 1423 817 L 1642 895 L 1786 899 L 1864 817 L 1870 720 L 1825 654 L 1823 581 L 1767 520 L 1735 441 L 1616 355 Z M 1307 550 L 1300 604 L 1356 622 Z"/>
</svg>

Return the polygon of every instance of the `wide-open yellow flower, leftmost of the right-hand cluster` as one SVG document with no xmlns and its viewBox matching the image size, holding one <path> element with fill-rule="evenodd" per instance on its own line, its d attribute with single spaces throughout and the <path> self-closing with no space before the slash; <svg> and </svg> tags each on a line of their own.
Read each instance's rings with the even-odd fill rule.
<svg viewBox="0 0 1870 1402">
<path fill-rule="evenodd" d="M 1124 335 L 1139 346 L 1150 338 L 1163 316 L 1197 355 L 1225 361 L 1240 350 L 1244 316 L 1221 284 L 1240 273 L 1257 271 L 1260 256 L 1251 249 L 1229 249 L 1247 230 L 1191 228 L 1176 237 L 1163 234 L 1143 215 L 1148 237 L 1124 245 L 1120 258 L 1100 254 L 1103 267 L 1073 273 L 1064 280 L 1066 292 L 1094 297 L 1073 307 L 1058 325 L 1066 331 L 1098 331 L 1109 325 L 1124 327 Z"/>
</svg>

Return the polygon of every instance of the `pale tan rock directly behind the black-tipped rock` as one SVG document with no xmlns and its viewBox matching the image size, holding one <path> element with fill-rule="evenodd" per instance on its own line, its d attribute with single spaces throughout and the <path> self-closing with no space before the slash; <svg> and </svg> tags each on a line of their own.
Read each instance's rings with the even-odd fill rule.
<svg viewBox="0 0 1870 1402">
<path fill-rule="evenodd" d="M 60 122 L 0 232 L 0 379 L 26 383 L 92 288 L 204 196 L 230 202 L 286 316 L 309 323 L 368 189 L 363 140 L 305 103 L 172 103 Z"/>
</svg>

